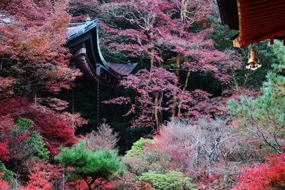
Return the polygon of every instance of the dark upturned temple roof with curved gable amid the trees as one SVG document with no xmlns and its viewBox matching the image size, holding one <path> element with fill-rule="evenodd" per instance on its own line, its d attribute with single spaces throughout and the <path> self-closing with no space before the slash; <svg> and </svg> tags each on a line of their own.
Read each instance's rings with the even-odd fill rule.
<svg viewBox="0 0 285 190">
<path fill-rule="evenodd" d="M 89 78 L 95 80 L 98 75 L 103 75 L 101 77 L 103 80 L 107 80 L 106 78 L 118 80 L 132 73 L 138 65 L 138 63 L 108 63 L 105 61 L 100 51 L 97 19 L 72 25 L 68 28 L 67 46 L 73 54 L 72 60 Z"/>
</svg>

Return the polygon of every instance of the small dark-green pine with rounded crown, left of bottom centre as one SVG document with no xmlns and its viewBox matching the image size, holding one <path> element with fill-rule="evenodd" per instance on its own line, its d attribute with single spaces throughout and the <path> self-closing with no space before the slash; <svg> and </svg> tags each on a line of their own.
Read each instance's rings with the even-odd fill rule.
<svg viewBox="0 0 285 190">
<path fill-rule="evenodd" d="M 63 148 L 56 160 L 64 167 L 73 167 L 68 171 L 81 177 L 88 189 L 96 189 L 108 182 L 108 179 L 122 167 L 121 159 L 115 150 L 88 149 L 88 142 L 81 140 L 73 148 Z M 95 183 L 101 179 L 100 183 Z M 95 184 L 93 186 L 93 184 Z"/>
</svg>

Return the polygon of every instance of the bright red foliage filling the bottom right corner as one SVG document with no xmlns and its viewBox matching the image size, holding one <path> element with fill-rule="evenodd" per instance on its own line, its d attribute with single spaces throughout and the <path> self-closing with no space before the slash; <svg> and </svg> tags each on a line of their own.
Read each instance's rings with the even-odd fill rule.
<svg viewBox="0 0 285 190">
<path fill-rule="evenodd" d="M 285 154 L 272 154 L 263 164 L 244 169 L 239 183 L 232 190 L 284 189 Z"/>
</svg>

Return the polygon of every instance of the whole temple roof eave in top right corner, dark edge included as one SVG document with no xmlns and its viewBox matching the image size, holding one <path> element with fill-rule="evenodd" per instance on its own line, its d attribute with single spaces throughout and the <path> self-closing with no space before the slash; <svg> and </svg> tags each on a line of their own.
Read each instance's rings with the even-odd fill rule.
<svg viewBox="0 0 285 190">
<path fill-rule="evenodd" d="M 285 38 L 284 0 L 217 0 L 222 24 L 239 30 L 234 46 L 245 48 L 266 39 Z M 285 42 L 284 42 L 285 45 Z"/>
</svg>

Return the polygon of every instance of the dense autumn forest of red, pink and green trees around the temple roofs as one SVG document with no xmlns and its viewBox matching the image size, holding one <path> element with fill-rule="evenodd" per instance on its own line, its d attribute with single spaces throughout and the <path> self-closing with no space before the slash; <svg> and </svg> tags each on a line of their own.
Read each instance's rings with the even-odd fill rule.
<svg viewBox="0 0 285 190">
<path fill-rule="evenodd" d="M 215 0 L 0 8 L 0 189 L 285 188 L 281 41 L 234 48 Z M 108 62 L 138 63 L 113 88 L 71 66 L 67 28 L 93 19 Z"/>
</svg>

